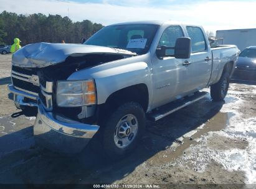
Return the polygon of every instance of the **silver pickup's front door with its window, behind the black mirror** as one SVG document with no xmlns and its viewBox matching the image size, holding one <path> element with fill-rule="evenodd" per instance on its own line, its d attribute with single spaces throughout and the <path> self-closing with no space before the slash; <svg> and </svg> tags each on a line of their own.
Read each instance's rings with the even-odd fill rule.
<svg viewBox="0 0 256 189">
<path fill-rule="evenodd" d="M 170 25 L 161 35 L 158 47 L 164 45 L 174 47 L 179 37 L 184 37 L 183 29 L 179 25 Z M 174 49 L 169 49 L 167 53 L 168 55 L 174 55 Z M 184 66 L 183 63 L 190 61 L 190 58 L 158 58 L 155 52 L 152 53 L 153 104 L 155 107 L 169 103 L 187 93 L 189 90 L 187 88 L 189 86 L 188 76 L 191 68 Z"/>
</svg>

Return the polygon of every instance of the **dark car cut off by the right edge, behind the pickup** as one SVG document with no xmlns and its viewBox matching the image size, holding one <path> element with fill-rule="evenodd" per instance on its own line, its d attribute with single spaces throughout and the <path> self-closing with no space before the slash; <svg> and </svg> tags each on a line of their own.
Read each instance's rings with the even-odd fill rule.
<svg viewBox="0 0 256 189">
<path fill-rule="evenodd" d="M 247 47 L 240 53 L 232 79 L 256 81 L 256 46 Z"/>
</svg>

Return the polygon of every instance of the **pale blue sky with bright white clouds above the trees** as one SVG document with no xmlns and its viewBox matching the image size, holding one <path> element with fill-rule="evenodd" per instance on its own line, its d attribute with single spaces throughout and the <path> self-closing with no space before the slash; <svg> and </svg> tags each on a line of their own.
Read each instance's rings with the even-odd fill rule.
<svg viewBox="0 0 256 189">
<path fill-rule="evenodd" d="M 244 0 L 0 0 L 0 12 L 60 14 L 72 21 L 103 25 L 126 21 L 171 20 L 222 29 L 256 28 L 256 1 Z"/>
</svg>

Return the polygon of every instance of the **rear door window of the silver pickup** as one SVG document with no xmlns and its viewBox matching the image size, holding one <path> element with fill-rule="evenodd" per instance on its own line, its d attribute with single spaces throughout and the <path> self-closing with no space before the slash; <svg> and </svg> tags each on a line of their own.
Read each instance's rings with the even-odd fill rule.
<svg viewBox="0 0 256 189">
<path fill-rule="evenodd" d="M 187 26 L 187 33 L 191 38 L 192 53 L 206 50 L 206 40 L 199 27 Z"/>
</svg>

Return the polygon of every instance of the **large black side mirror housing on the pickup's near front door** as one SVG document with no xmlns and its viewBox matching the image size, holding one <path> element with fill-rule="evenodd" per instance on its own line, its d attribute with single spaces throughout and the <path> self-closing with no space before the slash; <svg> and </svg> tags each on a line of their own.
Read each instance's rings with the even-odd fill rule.
<svg viewBox="0 0 256 189">
<path fill-rule="evenodd" d="M 175 58 L 190 58 L 191 54 L 191 39 L 189 37 L 179 37 L 176 40 L 174 47 Z"/>
</svg>

